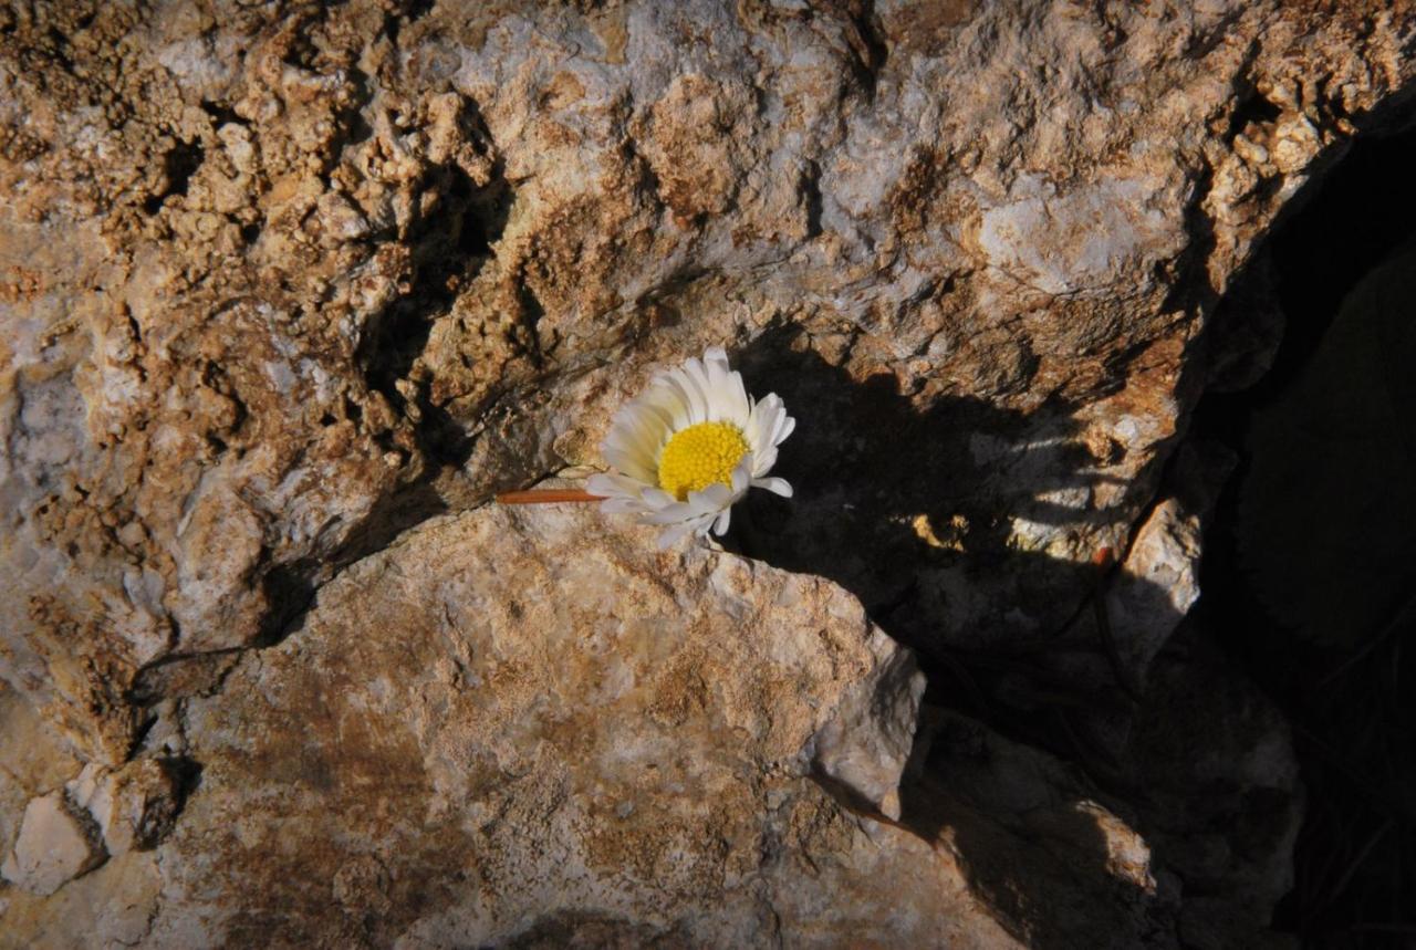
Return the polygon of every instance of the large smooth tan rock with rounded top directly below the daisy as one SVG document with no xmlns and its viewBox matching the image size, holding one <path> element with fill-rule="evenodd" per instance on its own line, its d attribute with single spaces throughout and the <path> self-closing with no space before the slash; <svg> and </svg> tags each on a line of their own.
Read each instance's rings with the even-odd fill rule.
<svg viewBox="0 0 1416 950">
<path fill-rule="evenodd" d="M 297 634 L 188 701 L 202 776 L 159 848 L 153 940 L 486 944 L 589 916 L 746 946 L 789 926 L 769 909 L 799 886 L 786 865 L 838 862 L 803 835 L 860 848 L 872 824 L 810 776 L 898 804 L 923 680 L 840 588 L 653 537 L 487 507 L 327 585 Z M 827 876 L 800 886 L 879 893 L 850 861 Z M 967 903 L 909 899 L 916 923 L 855 908 L 840 934 L 918 937 Z"/>
</svg>

